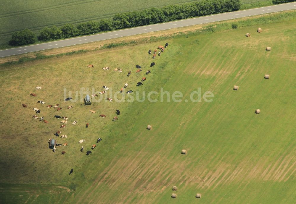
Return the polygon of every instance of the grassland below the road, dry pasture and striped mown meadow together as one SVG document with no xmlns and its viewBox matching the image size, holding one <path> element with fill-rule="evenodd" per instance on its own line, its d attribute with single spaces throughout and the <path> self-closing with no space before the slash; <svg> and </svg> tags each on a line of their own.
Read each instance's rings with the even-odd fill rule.
<svg viewBox="0 0 296 204">
<path fill-rule="evenodd" d="M 1 67 L 0 197 L 4 203 L 294 203 L 296 21 L 292 13 L 294 19 L 284 22 L 254 20 L 257 25 L 181 35 L 136 48 Z M 263 33 L 256 32 L 258 27 Z M 165 52 L 152 60 L 147 51 L 166 42 Z M 265 51 L 266 46 L 271 51 Z M 152 61 L 156 66 L 150 68 Z M 136 73 L 135 64 L 143 71 Z M 114 72 L 116 67 L 123 73 Z M 148 69 L 151 74 L 145 75 Z M 264 79 L 265 74 L 270 79 Z M 144 76 L 144 85 L 137 87 Z M 85 95 L 92 88 L 101 91 L 103 85 L 114 95 L 125 83 L 135 99 L 137 91 L 139 99 L 143 92 L 146 99 L 129 103 L 113 97 L 109 102 L 105 99 L 109 95 L 104 95 L 103 101 L 85 106 L 79 93 L 77 102 L 63 101 L 69 91 Z M 239 90 L 233 90 L 234 85 Z M 35 90 L 36 86 L 42 89 Z M 162 88 L 170 94 L 170 102 L 167 94 L 161 102 Z M 149 95 L 151 91 L 157 94 Z M 172 99 L 176 91 L 183 94 L 181 102 Z M 200 102 L 190 100 L 194 91 L 201 93 Z M 208 98 L 212 102 L 203 99 L 207 91 L 214 94 Z M 148 95 L 158 101 L 149 102 Z M 56 103 L 62 110 L 46 108 Z M 74 108 L 67 109 L 70 105 Z M 32 118 L 33 107 L 41 109 L 38 116 L 49 124 Z M 119 120 L 112 122 L 116 109 L 121 111 Z M 256 109 L 261 113 L 255 114 Z M 62 129 L 68 137 L 56 138 L 69 144 L 53 153 L 47 142 L 60 130 L 56 114 L 69 118 Z M 148 124 L 152 130 L 146 129 Z M 103 140 L 86 156 L 98 137 Z M 79 144 L 81 139 L 86 142 Z M 182 149 L 186 155 L 181 155 Z M 74 173 L 68 175 L 71 168 Z M 170 197 L 174 185 L 176 199 Z M 201 199 L 195 198 L 196 193 Z"/>
</svg>

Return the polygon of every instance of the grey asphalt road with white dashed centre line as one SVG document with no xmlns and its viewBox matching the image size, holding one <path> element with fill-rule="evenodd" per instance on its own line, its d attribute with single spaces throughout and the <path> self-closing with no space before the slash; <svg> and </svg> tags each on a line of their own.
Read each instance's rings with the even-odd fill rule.
<svg viewBox="0 0 296 204">
<path fill-rule="evenodd" d="M 87 35 L 87 36 L 78 37 L 78 38 L 71 38 L 71 39 L 66 39 L 61 41 L 42 43 L 42 44 L 30 45 L 30 46 L 19 47 L 19 48 L 11 48 L 6 50 L 1 50 L 0 57 L 77 45 L 82 43 L 89 43 L 94 41 L 101 41 L 101 40 L 112 39 L 112 38 L 120 38 L 124 36 L 129 36 L 129 35 L 137 35 L 141 33 L 149 33 L 149 32 L 154 32 L 158 30 L 166 30 L 166 29 L 184 27 L 189 25 L 197 25 L 197 24 L 203 24 L 203 23 L 241 18 L 246 16 L 279 12 L 279 11 L 285 11 L 285 10 L 291 10 L 291 9 L 296 9 L 296 2 L 287 3 L 287 4 L 278 4 L 278 5 L 268 6 L 268 7 L 261 7 L 261 8 L 242 10 L 242 11 L 236 11 L 236 12 L 215 14 L 215 15 L 210 15 L 205 17 L 198 17 L 198 18 L 179 20 L 179 21 L 173 21 L 173 22 L 167 22 L 167 23 L 134 27 L 134 28 L 129 28 L 125 30 L 113 31 L 109 33 Z"/>
</svg>

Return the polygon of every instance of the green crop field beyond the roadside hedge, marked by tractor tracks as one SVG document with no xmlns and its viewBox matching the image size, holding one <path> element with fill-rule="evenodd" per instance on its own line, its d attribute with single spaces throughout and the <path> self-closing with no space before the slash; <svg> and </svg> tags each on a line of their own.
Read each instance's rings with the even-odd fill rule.
<svg viewBox="0 0 296 204">
<path fill-rule="evenodd" d="M 138 11 L 152 7 L 162 7 L 172 4 L 180 4 L 196 0 L 62 0 L 62 1 L 1 1 L 0 11 L 0 44 L 7 44 L 15 31 L 28 28 L 36 34 L 43 27 L 53 25 L 62 26 L 66 23 L 81 23 L 90 20 L 111 18 L 114 14 L 128 11 Z M 268 2 L 267 0 L 242 0 L 243 4 L 249 5 L 256 2 Z M 258 4 L 259 5 L 259 4 Z M 264 6 L 267 4 L 260 4 Z"/>
</svg>

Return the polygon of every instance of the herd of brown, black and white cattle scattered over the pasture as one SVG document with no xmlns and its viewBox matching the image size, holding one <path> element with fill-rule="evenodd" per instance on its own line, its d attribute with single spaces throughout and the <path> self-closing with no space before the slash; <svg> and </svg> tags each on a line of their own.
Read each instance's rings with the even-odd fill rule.
<svg viewBox="0 0 296 204">
<path fill-rule="evenodd" d="M 163 46 L 158 46 L 158 49 L 160 49 L 161 51 L 159 51 L 159 56 L 160 56 L 160 53 L 161 52 L 164 52 L 164 49 L 166 48 L 168 46 L 168 43 L 166 43 L 165 44 L 165 46 L 163 47 Z M 156 51 L 157 50 L 155 50 L 154 51 L 154 55 L 153 55 L 153 59 L 155 59 L 155 56 L 156 56 Z M 148 51 L 148 54 L 150 55 L 151 54 L 151 49 Z M 150 64 L 150 67 L 153 67 L 155 65 L 155 62 L 152 62 L 151 64 Z M 88 65 L 88 67 L 94 67 L 94 65 Z M 139 65 L 136 65 L 136 68 L 138 69 L 136 72 L 141 72 L 142 70 L 141 70 L 141 66 L 139 66 Z M 110 70 L 110 67 L 104 67 L 103 68 L 103 70 Z M 119 72 L 122 72 L 122 69 L 118 69 L 118 68 L 116 68 L 116 69 L 114 69 L 114 71 L 119 71 Z M 147 70 L 146 71 L 146 75 L 148 75 L 149 73 L 151 73 L 151 71 L 150 70 Z M 128 77 L 131 75 L 131 71 L 129 71 L 128 72 Z M 146 80 L 146 77 L 142 77 L 142 80 L 141 80 L 141 82 L 137 82 L 137 86 L 140 86 L 140 85 L 143 85 L 143 81 L 145 81 Z M 127 88 L 127 86 L 128 86 L 128 84 L 126 83 L 125 85 L 124 85 L 124 88 Z M 37 86 L 36 87 L 36 90 L 39 90 L 39 89 L 41 89 L 42 87 L 41 86 Z M 104 94 L 104 93 L 106 93 L 106 90 L 109 90 L 109 88 L 107 87 L 107 86 L 103 86 L 102 88 L 104 88 L 105 90 L 104 91 L 101 91 L 99 94 Z M 120 92 L 122 92 L 123 91 L 123 88 L 121 88 L 120 89 Z M 129 91 L 127 91 L 126 93 L 127 94 L 129 94 L 129 93 L 132 93 L 133 92 L 133 90 L 129 90 Z M 34 97 L 36 97 L 37 96 L 37 94 L 35 94 L 35 93 L 31 93 L 30 94 L 31 96 L 34 96 Z M 91 95 L 92 97 L 95 97 L 95 96 L 98 96 L 97 94 L 93 94 L 93 95 Z M 65 99 L 65 101 L 70 101 L 72 98 L 66 98 Z M 110 102 L 112 101 L 112 98 L 107 98 L 107 100 L 109 100 Z M 45 104 L 45 102 L 44 101 L 37 101 L 37 103 L 40 103 L 40 104 Z M 28 106 L 26 105 L 26 104 L 22 104 L 22 106 L 23 107 L 25 107 L 25 108 L 27 108 Z M 56 104 L 56 105 L 47 105 L 46 106 L 47 108 L 56 108 L 56 110 L 57 111 L 59 111 L 59 110 L 61 110 L 62 108 L 61 107 L 59 107 L 59 104 Z M 67 109 L 72 109 L 72 108 L 74 108 L 74 106 L 68 106 L 67 107 Z M 36 111 L 36 114 L 40 114 L 40 110 L 39 109 L 37 109 L 37 108 L 33 108 L 32 109 L 33 111 Z M 93 111 L 93 110 L 90 110 L 89 112 L 91 112 L 91 113 L 96 113 L 96 111 Z M 120 115 L 120 111 L 117 109 L 116 110 L 116 114 L 117 115 Z M 106 116 L 105 115 L 103 115 L 103 114 L 101 114 L 101 115 L 99 115 L 100 117 L 103 117 L 103 118 L 105 118 Z M 34 119 L 38 119 L 38 116 L 37 115 L 34 115 L 32 118 L 34 118 Z M 66 116 L 59 116 L 59 115 L 54 115 L 54 118 L 58 118 L 58 119 L 63 119 L 60 123 L 61 123 L 61 126 L 60 126 L 60 128 L 65 128 L 66 127 L 66 124 L 67 124 L 67 120 L 68 120 L 68 118 L 66 117 Z M 115 116 L 115 117 L 113 117 L 113 121 L 115 122 L 116 120 L 118 120 L 118 117 L 117 116 Z M 41 116 L 40 117 L 40 119 L 39 119 L 39 121 L 43 121 L 44 123 L 49 123 L 47 120 L 45 120 L 44 119 L 44 116 Z M 77 120 L 75 120 L 73 123 L 72 123 L 72 125 L 75 125 L 77 123 Z M 88 128 L 89 127 L 89 123 L 86 123 L 86 128 Z M 54 133 L 54 135 L 56 136 L 56 137 L 60 137 L 60 138 L 67 138 L 67 135 L 61 135 L 61 136 L 59 136 L 59 134 L 61 134 L 61 131 L 57 131 L 57 132 L 55 132 Z M 49 141 L 51 141 L 52 140 L 52 138 L 50 138 L 50 140 Z M 101 141 L 102 139 L 99 137 L 98 139 L 97 139 L 97 141 L 96 141 L 96 143 L 99 143 L 100 141 Z M 83 143 L 83 142 L 85 142 L 85 140 L 79 140 L 78 141 L 78 143 Z M 63 144 L 63 146 L 67 146 L 68 145 L 68 143 L 64 143 Z M 54 145 L 54 147 L 53 147 L 53 152 L 56 152 L 56 146 L 62 146 L 62 144 L 56 144 L 56 145 Z M 93 144 L 92 146 L 91 146 L 91 149 L 93 150 L 94 148 L 96 147 L 96 145 L 95 144 Z M 84 147 L 82 146 L 81 147 L 81 149 L 80 149 L 80 151 L 81 152 L 83 152 L 83 149 L 84 149 Z M 65 151 L 62 151 L 62 155 L 64 155 L 66 152 Z M 89 155 L 89 154 L 91 154 L 91 151 L 90 150 L 88 150 L 87 152 L 86 152 L 86 155 Z M 72 174 L 73 173 L 73 169 L 71 169 L 70 170 L 70 173 L 69 174 Z"/>
</svg>

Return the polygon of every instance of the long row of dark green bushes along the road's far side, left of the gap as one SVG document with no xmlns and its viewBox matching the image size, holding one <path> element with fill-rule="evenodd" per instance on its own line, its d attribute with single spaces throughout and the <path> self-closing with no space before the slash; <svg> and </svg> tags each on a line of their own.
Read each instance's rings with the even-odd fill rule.
<svg viewBox="0 0 296 204">
<path fill-rule="evenodd" d="M 240 0 L 206 0 L 161 8 L 151 8 L 136 12 L 124 12 L 115 14 L 112 19 L 89 21 L 86 23 L 66 24 L 61 28 L 56 26 L 45 27 L 38 35 L 39 41 L 50 41 L 61 38 L 70 38 L 78 35 L 88 35 L 99 31 L 110 31 L 129 27 L 150 25 L 155 23 L 169 22 L 197 16 L 205 16 L 223 12 L 239 10 Z M 12 34 L 9 44 L 20 46 L 35 43 L 37 40 L 34 33 L 28 29 Z"/>
</svg>

